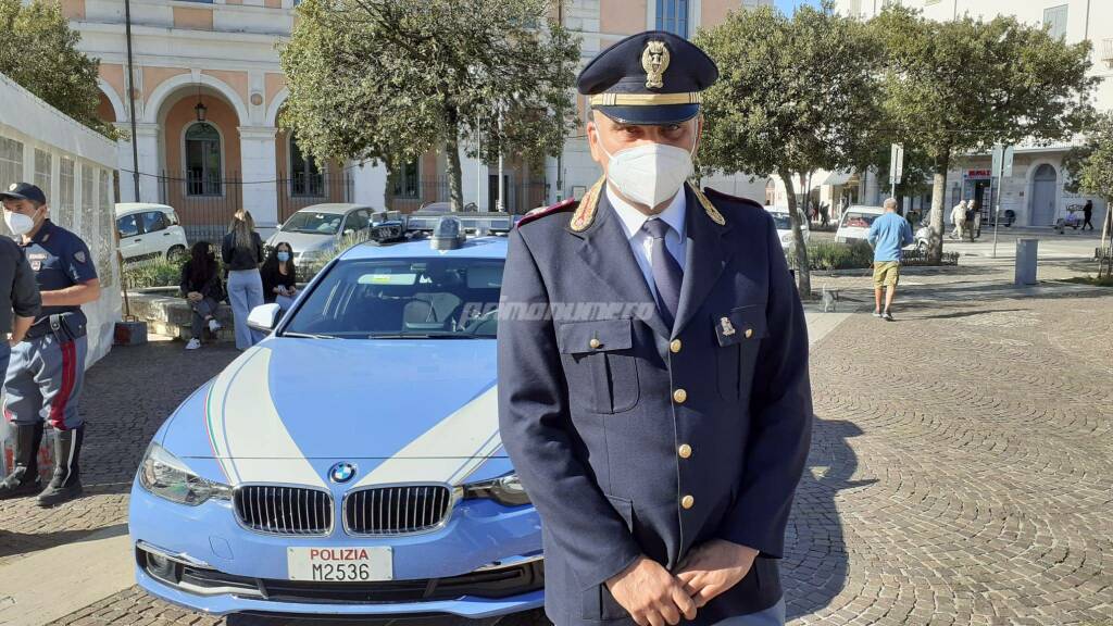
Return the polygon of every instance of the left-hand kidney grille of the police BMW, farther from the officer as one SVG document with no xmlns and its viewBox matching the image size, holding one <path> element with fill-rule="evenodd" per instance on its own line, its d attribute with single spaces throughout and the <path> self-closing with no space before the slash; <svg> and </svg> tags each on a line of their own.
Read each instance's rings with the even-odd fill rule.
<svg viewBox="0 0 1113 626">
<path fill-rule="evenodd" d="M 235 493 L 236 516 L 252 530 L 273 535 L 327 535 L 333 528 L 333 498 L 302 487 L 250 485 Z"/>
</svg>

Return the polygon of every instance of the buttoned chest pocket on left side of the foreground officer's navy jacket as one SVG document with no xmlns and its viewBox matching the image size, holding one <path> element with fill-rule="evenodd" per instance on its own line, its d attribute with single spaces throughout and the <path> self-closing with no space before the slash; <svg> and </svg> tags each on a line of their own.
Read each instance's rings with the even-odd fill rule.
<svg viewBox="0 0 1113 626">
<path fill-rule="evenodd" d="M 594 413 L 620 413 L 638 404 L 632 320 L 556 322 L 556 346 L 573 403 Z"/>
</svg>

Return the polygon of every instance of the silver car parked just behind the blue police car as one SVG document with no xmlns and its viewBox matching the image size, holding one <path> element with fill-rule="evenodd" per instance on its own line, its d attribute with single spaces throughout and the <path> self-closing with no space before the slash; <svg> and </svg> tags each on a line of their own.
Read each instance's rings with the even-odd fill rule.
<svg viewBox="0 0 1113 626">
<path fill-rule="evenodd" d="M 372 224 L 381 222 L 382 216 L 382 212 L 361 204 L 315 204 L 290 215 L 266 245 L 286 242 L 295 262 L 313 263 L 333 252 L 345 237 L 368 237 Z"/>
</svg>

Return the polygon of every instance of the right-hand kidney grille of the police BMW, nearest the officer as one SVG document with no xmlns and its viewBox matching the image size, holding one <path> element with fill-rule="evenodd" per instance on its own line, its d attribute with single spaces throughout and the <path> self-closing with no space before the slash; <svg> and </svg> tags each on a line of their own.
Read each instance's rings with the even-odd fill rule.
<svg viewBox="0 0 1113 626">
<path fill-rule="evenodd" d="M 452 507 L 443 485 L 375 487 L 344 499 L 344 528 L 352 535 L 406 535 L 439 527 Z"/>
</svg>

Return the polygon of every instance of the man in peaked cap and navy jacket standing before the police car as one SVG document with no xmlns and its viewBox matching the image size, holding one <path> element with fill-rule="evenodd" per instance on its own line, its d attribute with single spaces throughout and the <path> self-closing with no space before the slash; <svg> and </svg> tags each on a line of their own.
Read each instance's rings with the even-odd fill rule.
<svg viewBox="0 0 1113 626">
<path fill-rule="evenodd" d="M 807 327 L 772 218 L 687 183 L 717 77 L 668 32 L 601 52 L 578 87 L 604 176 L 510 235 L 500 426 L 559 626 L 785 619 Z"/>
</svg>

